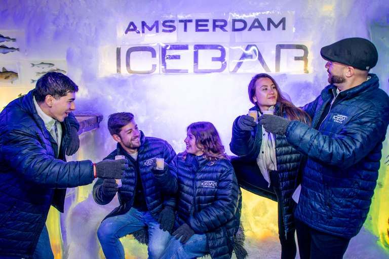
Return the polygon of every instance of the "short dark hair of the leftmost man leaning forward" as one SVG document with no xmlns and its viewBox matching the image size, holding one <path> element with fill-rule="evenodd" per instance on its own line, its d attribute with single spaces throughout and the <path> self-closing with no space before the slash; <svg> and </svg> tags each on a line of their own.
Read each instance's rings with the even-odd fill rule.
<svg viewBox="0 0 389 259">
<path fill-rule="evenodd" d="M 47 95 L 56 100 L 68 93 L 79 91 L 79 87 L 66 75 L 58 72 L 48 72 L 38 79 L 34 96 L 37 103 L 43 103 Z"/>
</svg>

